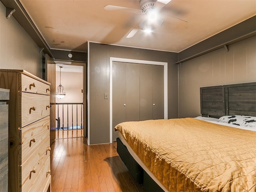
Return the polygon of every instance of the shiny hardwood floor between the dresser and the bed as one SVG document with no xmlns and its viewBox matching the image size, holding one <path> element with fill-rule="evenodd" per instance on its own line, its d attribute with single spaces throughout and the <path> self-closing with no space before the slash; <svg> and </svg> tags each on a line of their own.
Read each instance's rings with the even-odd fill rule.
<svg viewBox="0 0 256 192">
<path fill-rule="evenodd" d="M 51 146 L 52 192 L 144 192 L 112 144 L 86 138 L 56 139 Z"/>
</svg>

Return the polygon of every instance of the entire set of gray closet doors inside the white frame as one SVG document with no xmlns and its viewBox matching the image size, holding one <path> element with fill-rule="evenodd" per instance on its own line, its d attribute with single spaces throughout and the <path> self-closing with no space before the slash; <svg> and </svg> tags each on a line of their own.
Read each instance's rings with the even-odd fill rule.
<svg viewBox="0 0 256 192">
<path fill-rule="evenodd" d="M 112 139 L 126 121 L 164 118 L 164 66 L 113 62 Z"/>
</svg>

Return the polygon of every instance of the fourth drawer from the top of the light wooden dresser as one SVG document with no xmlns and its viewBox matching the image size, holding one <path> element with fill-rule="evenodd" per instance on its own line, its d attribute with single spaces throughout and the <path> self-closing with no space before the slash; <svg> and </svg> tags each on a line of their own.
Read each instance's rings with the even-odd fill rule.
<svg viewBox="0 0 256 192">
<path fill-rule="evenodd" d="M 35 152 L 20 166 L 22 191 L 29 191 L 33 183 L 44 170 L 44 165 L 50 157 L 50 136 L 48 136 Z"/>
</svg>

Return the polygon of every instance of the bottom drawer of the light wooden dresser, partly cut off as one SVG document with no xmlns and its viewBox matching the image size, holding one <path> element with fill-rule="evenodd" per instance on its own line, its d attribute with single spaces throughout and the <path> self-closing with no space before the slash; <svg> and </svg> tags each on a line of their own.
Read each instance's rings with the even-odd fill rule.
<svg viewBox="0 0 256 192">
<path fill-rule="evenodd" d="M 51 171 L 50 171 L 50 157 L 48 157 L 47 161 L 44 164 L 44 168 L 41 170 L 38 178 L 33 183 L 32 187 L 30 188 L 30 192 L 40 191 L 46 192 L 48 186 L 51 182 Z"/>
</svg>

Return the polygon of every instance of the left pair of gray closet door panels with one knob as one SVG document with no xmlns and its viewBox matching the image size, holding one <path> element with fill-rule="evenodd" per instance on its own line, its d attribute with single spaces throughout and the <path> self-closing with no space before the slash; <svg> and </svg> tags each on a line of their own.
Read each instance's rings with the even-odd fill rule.
<svg viewBox="0 0 256 192">
<path fill-rule="evenodd" d="M 140 68 L 138 64 L 113 62 L 112 125 L 113 141 L 118 137 L 114 127 L 125 121 L 140 120 Z"/>
</svg>

